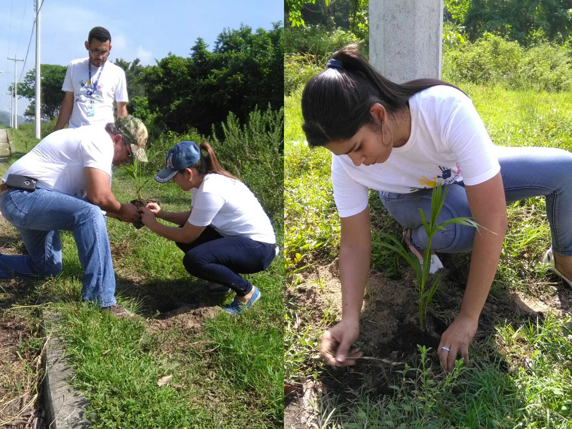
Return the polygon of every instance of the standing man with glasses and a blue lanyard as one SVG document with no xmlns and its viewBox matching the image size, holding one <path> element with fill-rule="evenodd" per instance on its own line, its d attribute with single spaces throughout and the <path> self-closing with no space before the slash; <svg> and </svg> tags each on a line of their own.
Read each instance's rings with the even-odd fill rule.
<svg viewBox="0 0 572 429">
<path fill-rule="evenodd" d="M 127 114 L 129 101 L 125 72 L 106 61 L 111 51 L 111 35 L 104 27 L 93 27 L 85 42 L 88 58 L 74 59 L 67 66 L 62 91 L 66 96 L 59 109 L 54 130 L 61 130 L 69 121 L 69 128 L 113 122 L 113 101 L 117 103 L 117 117 Z"/>
</svg>

